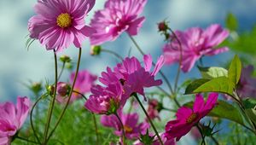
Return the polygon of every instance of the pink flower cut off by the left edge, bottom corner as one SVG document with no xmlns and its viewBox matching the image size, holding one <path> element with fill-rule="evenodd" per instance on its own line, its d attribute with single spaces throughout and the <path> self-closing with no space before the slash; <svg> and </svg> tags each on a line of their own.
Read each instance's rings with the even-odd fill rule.
<svg viewBox="0 0 256 145">
<path fill-rule="evenodd" d="M 12 136 L 24 124 L 30 108 L 27 97 L 17 98 L 17 105 L 11 102 L 0 104 L 0 144 L 10 144 Z"/>
</svg>

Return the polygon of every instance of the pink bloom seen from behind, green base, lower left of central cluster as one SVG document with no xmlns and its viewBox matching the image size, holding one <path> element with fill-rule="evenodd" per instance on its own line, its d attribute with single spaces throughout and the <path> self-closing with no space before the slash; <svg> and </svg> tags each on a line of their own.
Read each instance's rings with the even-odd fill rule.
<svg viewBox="0 0 256 145">
<path fill-rule="evenodd" d="M 109 84 L 106 88 L 96 85 L 91 88 L 91 93 L 84 107 L 93 113 L 111 114 L 125 105 L 124 98 L 126 97 L 123 95 L 123 87 L 119 82 Z"/>
</svg>

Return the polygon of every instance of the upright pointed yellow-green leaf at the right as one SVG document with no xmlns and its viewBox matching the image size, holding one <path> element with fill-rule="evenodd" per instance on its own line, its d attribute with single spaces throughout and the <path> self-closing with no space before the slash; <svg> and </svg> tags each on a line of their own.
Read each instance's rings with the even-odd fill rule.
<svg viewBox="0 0 256 145">
<path fill-rule="evenodd" d="M 229 78 L 234 83 L 237 84 L 241 76 L 241 61 L 237 55 L 233 58 L 229 68 Z"/>
</svg>

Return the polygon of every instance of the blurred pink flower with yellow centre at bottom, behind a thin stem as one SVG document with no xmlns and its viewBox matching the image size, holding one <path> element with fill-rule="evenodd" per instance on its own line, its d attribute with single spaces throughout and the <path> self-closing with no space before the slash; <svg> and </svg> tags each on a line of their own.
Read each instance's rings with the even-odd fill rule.
<svg viewBox="0 0 256 145">
<path fill-rule="evenodd" d="M 149 128 L 146 122 L 138 124 L 139 115 L 137 113 L 125 114 L 122 111 L 118 111 L 118 113 L 125 128 L 125 137 L 128 139 L 137 139 L 140 133 L 145 134 Z M 115 130 L 115 135 L 123 136 L 121 124 L 115 115 L 102 115 L 101 123 L 106 127 L 112 127 Z"/>
</svg>

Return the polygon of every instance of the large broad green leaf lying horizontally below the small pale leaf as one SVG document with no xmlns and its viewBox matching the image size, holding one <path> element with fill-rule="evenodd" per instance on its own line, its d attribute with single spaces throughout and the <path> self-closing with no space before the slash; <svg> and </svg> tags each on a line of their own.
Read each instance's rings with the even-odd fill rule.
<svg viewBox="0 0 256 145">
<path fill-rule="evenodd" d="M 213 79 L 197 79 L 186 88 L 185 94 L 201 93 L 201 92 L 220 92 L 233 96 L 235 84 L 226 77 L 218 77 Z"/>
</svg>

